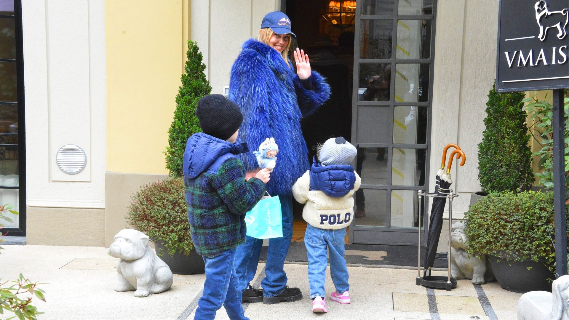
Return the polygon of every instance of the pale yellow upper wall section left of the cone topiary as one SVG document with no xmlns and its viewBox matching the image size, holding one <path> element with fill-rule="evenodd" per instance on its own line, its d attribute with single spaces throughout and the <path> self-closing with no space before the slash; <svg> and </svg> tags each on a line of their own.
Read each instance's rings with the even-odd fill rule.
<svg viewBox="0 0 569 320">
<path fill-rule="evenodd" d="M 183 71 L 188 0 L 105 5 L 106 170 L 167 173 L 164 149 Z"/>
</svg>

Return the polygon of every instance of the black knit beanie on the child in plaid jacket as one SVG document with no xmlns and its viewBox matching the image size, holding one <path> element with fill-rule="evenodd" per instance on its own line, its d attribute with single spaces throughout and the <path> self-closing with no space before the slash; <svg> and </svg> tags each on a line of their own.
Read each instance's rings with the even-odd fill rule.
<svg viewBox="0 0 569 320">
<path fill-rule="evenodd" d="M 239 106 L 222 95 L 208 95 L 197 101 L 196 116 L 205 134 L 221 140 L 233 136 L 243 121 Z"/>
</svg>

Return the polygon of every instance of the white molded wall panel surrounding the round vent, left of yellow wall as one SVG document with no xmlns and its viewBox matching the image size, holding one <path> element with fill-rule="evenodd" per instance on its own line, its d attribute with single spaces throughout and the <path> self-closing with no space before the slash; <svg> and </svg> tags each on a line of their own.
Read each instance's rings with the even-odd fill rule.
<svg viewBox="0 0 569 320">
<path fill-rule="evenodd" d="M 27 204 L 104 208 L 105 3 L 23 0 L 22 20 Z M 67 143 L 85 151 L 79 174 L 57 167 Z"/>
</svg>

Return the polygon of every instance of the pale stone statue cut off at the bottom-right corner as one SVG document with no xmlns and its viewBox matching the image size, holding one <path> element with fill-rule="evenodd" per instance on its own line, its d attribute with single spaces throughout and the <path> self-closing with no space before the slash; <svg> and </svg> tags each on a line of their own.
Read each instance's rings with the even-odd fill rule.
<svg viewBox="0 0 569 320">
<path fill-rule="evenodd" d="M 530 291 L 518 301 L 518 320 L 569 319 L 569 276 L 561 276 L 551 284 L 551 293 Z"/>
</svg>

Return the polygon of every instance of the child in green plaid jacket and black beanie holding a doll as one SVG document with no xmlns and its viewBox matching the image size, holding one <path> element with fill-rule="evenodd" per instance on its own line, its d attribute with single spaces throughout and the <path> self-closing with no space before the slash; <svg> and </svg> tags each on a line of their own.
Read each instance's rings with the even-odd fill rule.
<svg viewBox="0 0 569 320">
<path fill-rule="evenodd" d="M 183 163 L 192 241 L 205 261 L 204 290 L 194 319 L 214 319 L 224 305 L 229 318 L 245 320 L 233 260 L 237 245 L 245 242 L 245 213 L 261 200 L 270 171 L 245 180 L 236 155 L 248 148 L 234 143 L 243 116 L 232 101 L 205 96 L 197 103 L 196 116 L 203 133 L 189 137 Z"/>
</svg>

